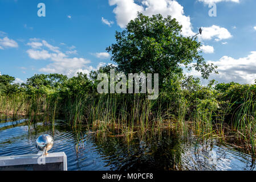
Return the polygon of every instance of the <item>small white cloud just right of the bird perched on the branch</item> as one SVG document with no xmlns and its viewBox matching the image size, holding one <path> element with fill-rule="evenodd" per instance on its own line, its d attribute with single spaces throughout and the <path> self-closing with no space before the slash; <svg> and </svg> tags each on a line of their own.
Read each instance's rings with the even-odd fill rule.
<svg viewBox="0 0 256 182">
<path fill-rule="evenodd" d="M 202 35 L 198 36 L 202 40 L 214 40 L 220 41 L 224 39 L 232 38 L 230 32 L 223 27 L 213 25 L 211 27 L 202 27 Z"/>
</svg>

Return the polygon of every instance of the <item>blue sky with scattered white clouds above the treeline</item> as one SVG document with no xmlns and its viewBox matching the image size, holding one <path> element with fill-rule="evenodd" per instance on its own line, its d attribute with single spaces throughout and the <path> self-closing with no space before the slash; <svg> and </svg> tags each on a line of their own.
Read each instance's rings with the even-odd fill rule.
<svg viewBox="0 0 256 182">
<path fill-rule="evenodd" d="M 45 17 L 38 16 L 41 2 Z M 140 11 L 172 15 L 184 36 L 202 27 L 200 50 L 220 73 L 210 78 L 253 83 L 255 7 L 255 0 L 0 0 L 0 73 L 22 82 L 35 73 L 72 77 L 96 70 L 111 63 L 105 48 L 115 43 L 115 31 L 122 31 Z"/>
</svg>

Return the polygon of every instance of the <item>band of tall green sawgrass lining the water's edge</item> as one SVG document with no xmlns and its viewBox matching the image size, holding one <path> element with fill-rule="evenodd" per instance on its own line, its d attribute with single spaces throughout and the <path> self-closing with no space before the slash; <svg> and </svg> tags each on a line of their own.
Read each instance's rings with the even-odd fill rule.
<svg viewBox="0 0 256 182">
<path fill-rule="evenodd" d="M 209 99 L 196 102 L 180 96 L 170 100 L 160 94 L 148 100 L 142 94 L 99 94 L 92 96 L 61 96 L 59 94 L 13 94 L 0 97 L 0 111 L 13 118 L 26 115 L 32 122 L 38 115 L 54 128 L 56 118 L 63 119 L 75 131 L 86 127 L 98 135 L 123 137 L 128 142 L 137 133 L 161 133 L 175 129 L 184 136 L 189 133 L 201 139 L 220 138 L 230 133 L 243 142 L 251 154 L 256 150 L 256 101 L 248 93 L 244 102 L 223 104 Z M 233 113 L 230 113 L 232 111 Z M 226 118 L 233 115 L 231 126 Z"/>
</svg>

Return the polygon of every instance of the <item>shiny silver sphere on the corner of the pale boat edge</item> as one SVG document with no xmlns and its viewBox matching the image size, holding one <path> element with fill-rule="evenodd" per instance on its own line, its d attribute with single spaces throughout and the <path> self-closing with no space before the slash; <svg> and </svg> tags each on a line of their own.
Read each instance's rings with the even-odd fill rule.
<svg viewBox="0 0 256 182">
<path fill-rule="evenodd" d="M 50 135 L 41 135 L 35 141 L 35 147 L 39 151 L 44 151 L 45 155 L 48 155 L 48 151 L 51 150 L 54 145 L 54 139 Z"/>
</svg>

